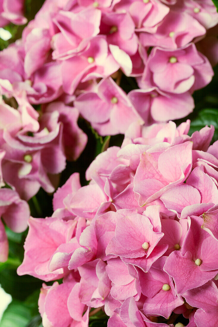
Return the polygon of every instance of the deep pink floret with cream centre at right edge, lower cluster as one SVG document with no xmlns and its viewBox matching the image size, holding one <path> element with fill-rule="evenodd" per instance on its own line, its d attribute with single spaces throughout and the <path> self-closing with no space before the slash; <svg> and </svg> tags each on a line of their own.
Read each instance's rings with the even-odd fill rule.
<svg viewBox="0 0 218 327">
<path fill-rule="evenodd" d="M 179 294 L 207 283 L 218 273 L 217 241 L 201 229 L 201 224 L 202 218 L 191 216 L 182 250 L 173 251 L 164 266 L 173 277 Z"/>
</svg>

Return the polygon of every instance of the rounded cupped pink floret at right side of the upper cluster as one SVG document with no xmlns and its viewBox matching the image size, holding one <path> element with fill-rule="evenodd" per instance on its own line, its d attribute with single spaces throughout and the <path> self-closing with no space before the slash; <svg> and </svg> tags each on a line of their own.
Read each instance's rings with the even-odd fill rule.
<svg viewBox="0 0 218 327">
<path fill-rule="evenodd" d="M 206 57 L 193 43 L 178 50 L 155 47 L 149 56 L 143 82 L 157 85 L 161 90 L 184 93 L 200 89 L 213 77 L 213 70 Z"/>
</svg>

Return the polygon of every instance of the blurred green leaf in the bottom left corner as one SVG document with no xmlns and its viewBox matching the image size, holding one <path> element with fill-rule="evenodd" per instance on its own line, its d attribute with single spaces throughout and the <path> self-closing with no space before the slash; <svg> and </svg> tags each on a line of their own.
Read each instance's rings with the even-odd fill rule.
<svg viewBox="0 0 218 327">
<path fill-rule="evenodd" d="M 0 326 L 26 327 L 30 320 L 30 310 L 21 301 L 13 300 L 3 313 Z"/>
</svg>

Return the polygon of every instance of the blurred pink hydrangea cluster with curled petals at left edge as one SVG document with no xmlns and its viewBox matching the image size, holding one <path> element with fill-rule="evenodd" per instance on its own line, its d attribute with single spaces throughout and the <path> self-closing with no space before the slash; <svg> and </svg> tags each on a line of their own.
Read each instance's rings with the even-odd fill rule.
<svg viewBox="0 0 218 327">
<path fill-rule="evenodd" d="M 63 102 L 37 112 L 24 96 L 16 109 L 0 99 L 0 216 L 14 232 L 27 229 L 27 200 L 42 187 L 52 193 L 67 160 L 76 160 L 87 136 L 78 127 L 79 111 Z M 4 188 L 4 186 L 11 187 Z M 26 200 L 26 201 L 25 201 Z M 0 261 L 8 258 L 8 240 L 0 221 Z"/>
</svg>

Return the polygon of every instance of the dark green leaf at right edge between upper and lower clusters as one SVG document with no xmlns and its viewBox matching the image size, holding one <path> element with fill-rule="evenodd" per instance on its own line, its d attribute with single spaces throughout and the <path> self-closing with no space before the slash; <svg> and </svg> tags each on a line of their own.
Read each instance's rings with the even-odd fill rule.
<svg viewBox="0 0 218 327">
<path fill-rule="evenodd" d="M 218 109 L 210 108 L 199 111 L 196 117 L 191 121 L 189 135 L 196 130 L 202 129 L 206 125 L 214 126 L 215 132 L 212 142 L 215 142 L 218 139 Z"/>
</svg>

